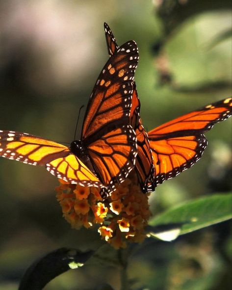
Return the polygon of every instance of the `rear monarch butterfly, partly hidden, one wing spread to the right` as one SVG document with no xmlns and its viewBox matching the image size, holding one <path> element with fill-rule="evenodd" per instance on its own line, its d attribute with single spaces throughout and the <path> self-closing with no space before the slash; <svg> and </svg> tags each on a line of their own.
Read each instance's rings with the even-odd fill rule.
<svg viewBox="0 0 232 290">
<path fill-rule="evenodd" d="M 112 55 L 119 47 L 106 23 L 104 29 L 108 53 Z M 206 105 L 153 129 L 148 135 L 139 112 L 140 102 L 134 83 L 130 118 L 138 145 L 135 170 L 142 190 L 151 192 L 156 185 L 175 177 L 201 158 L 207 145 L 203 132 L 231 116 L 232 100 L 228 98 Z"/>
</svg>

